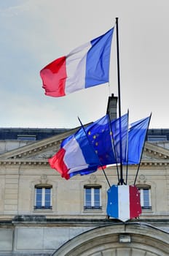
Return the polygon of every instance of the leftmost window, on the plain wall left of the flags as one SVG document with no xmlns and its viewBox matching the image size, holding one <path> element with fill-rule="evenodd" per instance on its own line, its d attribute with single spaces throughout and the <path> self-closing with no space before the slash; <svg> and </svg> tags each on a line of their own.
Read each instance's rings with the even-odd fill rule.
<svg viewBox="0 0 169 256">
<path fill-rule="evenodd" d="M 35 187 L 34 209 L 52 209 L 52 187 Z"/>
</svg>

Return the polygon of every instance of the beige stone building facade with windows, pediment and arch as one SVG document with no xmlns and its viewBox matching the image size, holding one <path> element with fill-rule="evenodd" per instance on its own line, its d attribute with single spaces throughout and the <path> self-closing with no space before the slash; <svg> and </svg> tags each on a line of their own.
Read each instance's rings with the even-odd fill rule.
<svg viewBox="0 0 169 256">
<path fill-rule="evenodd" d="M 0 255 L 168 256 L 169 140 L 146 141 L 136 180 L 142 214 L 121 222 L 106 217 L 116 167 L 105 170 L 109 183 L 102 170 L 66 181 L 50 168 L 48 158 L 74 132 L 0 140 Z M 127 184 L 137 168 L 128 167 Z"/>
</svg>

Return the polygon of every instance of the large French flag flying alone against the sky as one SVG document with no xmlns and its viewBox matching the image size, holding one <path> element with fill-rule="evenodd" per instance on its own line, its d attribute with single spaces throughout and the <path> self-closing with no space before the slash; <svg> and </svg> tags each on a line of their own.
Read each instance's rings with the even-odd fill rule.
<svg viewBox="0 0 169 256">
<path fill-rule="evenodd" d="M 44 67 L 40 76 L 45 94 L 63 97 L 109 82 L 113 32 L 114 28 Z"/>
</svg>

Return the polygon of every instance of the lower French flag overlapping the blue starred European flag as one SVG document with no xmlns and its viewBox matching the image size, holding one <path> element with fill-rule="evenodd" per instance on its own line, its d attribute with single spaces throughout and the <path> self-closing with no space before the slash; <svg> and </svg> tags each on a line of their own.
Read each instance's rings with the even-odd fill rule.
<svg viewBox="0 0 169 256">
<path fill-rule="evenodd" d="M 101 165 L 82 129 L 68 138 L 58 153 L 48 161 L 50 167 L 58 170 L 66 179 L 78 173 L 81 175 L 93 173 Z"/>
</svg>

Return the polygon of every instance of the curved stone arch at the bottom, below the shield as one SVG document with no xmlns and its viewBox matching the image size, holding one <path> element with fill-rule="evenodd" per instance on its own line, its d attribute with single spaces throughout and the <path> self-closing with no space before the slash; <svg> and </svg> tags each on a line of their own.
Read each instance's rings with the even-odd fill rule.
<svg viewBox="0 0 169 256">
<path fill-rule="evenodd" d="M 130 237 L 120 243 L 119 235 Z M 169 235 L 141 223 L 112 224 L 96 227 L 60 246 L 52 256 L 168 256 Z"/>
</svg>

